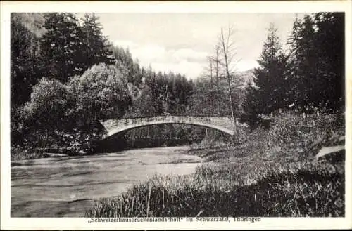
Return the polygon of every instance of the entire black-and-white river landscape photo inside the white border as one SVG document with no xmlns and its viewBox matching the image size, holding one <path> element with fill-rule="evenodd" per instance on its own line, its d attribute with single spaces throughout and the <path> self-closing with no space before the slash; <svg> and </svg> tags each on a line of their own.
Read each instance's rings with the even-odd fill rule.
<svg viewBox="0 0 352 231">
<path fill-rule="evenodd" d="M 88 227 L 346 218 L 346 17 L 8 12 L 6 213 Z"/>
</svg>

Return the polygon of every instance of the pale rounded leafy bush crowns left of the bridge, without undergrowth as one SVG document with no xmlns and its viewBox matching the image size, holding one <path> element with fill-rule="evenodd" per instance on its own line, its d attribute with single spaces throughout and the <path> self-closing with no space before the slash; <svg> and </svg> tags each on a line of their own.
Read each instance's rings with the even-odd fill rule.
<svg viewBox="0 0 352 231">
<path fill-rule="evenodd" d="M 70 128 L 119 118 L 130 105 L 126 77 L 114 66 L 94 65 L 66 86 L 43 78 L 34 86 L 23 119 L 34 128 Z"/>
</svg>

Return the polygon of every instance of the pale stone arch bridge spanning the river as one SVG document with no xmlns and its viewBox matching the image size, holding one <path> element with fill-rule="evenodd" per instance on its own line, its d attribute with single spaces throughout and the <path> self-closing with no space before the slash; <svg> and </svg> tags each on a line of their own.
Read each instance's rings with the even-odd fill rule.
<svg viewBox="0 0 352 231">
<path fill-rule="evenodd" d="M 127 131 L 132 128 L 142 126 L 150 126 L 154 124 L 189 124 L 196 126 L 204 126 L 217 129 L 234 136 L 234 123 L 228 117 L 177 117 L 177 116 L 161 116 L 161 117 L 145 117 L 132 119 L 108 119 L 99 120 L 106 129 L 107 134 L 103 138 L 108 138 L 115 134 Z M 237 123 L 239 124 L 239 123 Z M 241 125 L 241 124 L 239 124 Z"/>
</svg>

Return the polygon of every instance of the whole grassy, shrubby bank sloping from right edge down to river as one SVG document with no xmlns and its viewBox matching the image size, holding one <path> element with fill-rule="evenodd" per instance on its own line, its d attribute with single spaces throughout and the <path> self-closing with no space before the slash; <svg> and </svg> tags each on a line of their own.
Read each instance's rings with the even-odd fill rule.
<svg viewBox="0 0 352 231">
<path fill-rule="evenodd" d="M 241 133 L 241 145 L 191 150 L 206 161 L 189 176 L 155 176 L 86 216 L 344 216 L 344 158 L 318 162 L 344 135 L 343 114 L 278 117 Z"/>
</svg>

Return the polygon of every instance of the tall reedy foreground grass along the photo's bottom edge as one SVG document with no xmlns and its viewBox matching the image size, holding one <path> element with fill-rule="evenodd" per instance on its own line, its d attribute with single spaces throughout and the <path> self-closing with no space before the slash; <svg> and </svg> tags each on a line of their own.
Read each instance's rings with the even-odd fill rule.
<svg viewBox="0 0 352 231">
<path fill-rule="evenodd" d="M 338 165 L 227 164 L 190 176 L 154 176 L 118 197 L 101 199 L 90 217 L 344 216 Z"/>
</svg>

